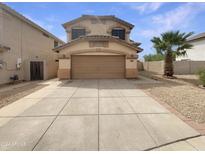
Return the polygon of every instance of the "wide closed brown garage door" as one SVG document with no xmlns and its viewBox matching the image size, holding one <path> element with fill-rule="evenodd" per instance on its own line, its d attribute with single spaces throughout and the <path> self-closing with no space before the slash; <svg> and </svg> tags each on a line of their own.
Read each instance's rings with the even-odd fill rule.
<svg viewBox="0 0 205 154">
<path fill-rule="evenodd" d="M 73 79 L 124 78 L 124 56 L 72 56 Z"/>
</svg>

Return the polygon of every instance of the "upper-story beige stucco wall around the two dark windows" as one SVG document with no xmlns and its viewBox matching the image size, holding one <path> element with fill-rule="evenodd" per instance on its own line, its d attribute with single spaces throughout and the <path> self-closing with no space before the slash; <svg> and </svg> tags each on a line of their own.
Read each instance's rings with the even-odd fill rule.
<svg viewBox="0 0 205 154">
<path fill-rule="evenodd" d="M 87 35 L 110 35 L 112 28 L 124 28 L 126 35 L 125 40 L 129 41 L 130 29 L 127 26 L 120 24 L 119 22 L 113 20 L 106 20 L 105 22 L 98 20 L 97 23 L 92 23 L 91 19 L 82 20 L 78 23 L 69 25 L 66 27 L 67 31 L 67 41 L 71 40 L 71 29 L 72 28 L 85 28 Z"/>
</svg>

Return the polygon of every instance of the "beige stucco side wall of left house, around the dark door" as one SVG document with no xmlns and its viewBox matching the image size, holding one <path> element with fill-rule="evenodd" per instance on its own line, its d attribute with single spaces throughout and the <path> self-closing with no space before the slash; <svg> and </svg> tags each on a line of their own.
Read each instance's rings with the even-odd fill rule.
<svg viewBox="0 0 205 154">
<path fill-rule="evenodd" d="M 3 69 L 0 69 L 0 84 L 18 74 L 21 80 L 30 79 L 30 61 L 44 62 L 44 79 L 57 74 L 57 55 L 52 51 L 54 39 L 46 37 L 40 30 L 25 23 L 12 14 L 0 10 L 0 44 L 11 48 L 0 52 Z M 22 67 L 17 70 L 17 59 L 21 58 Z"/>
</svg>

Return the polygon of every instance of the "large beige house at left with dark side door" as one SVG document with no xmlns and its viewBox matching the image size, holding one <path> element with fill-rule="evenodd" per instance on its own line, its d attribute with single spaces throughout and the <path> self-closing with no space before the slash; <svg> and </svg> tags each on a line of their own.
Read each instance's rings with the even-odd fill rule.
<svg viewBox="0 0 205 154">
<path fill-rule="evenodd" d="M 53 78 L 57 54 L 53 48 L 64 42 L 0 3 L 0 84 L 18 75 L 20 80 Z"/>
</svg>

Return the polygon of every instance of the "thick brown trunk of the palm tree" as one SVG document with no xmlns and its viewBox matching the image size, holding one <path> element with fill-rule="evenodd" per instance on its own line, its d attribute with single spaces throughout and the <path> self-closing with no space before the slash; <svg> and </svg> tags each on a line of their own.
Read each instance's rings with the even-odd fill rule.
<svg viewBox="0 0 205 154">
<path fill-rule="evenodd" d="M 164 75 L 172 77 L 174 74 L 173 70 L 173 58 L 172 58 L 172 53 L 167 52 L 165 55 L 165 62 L 164 62 Z"/>
</svg>

